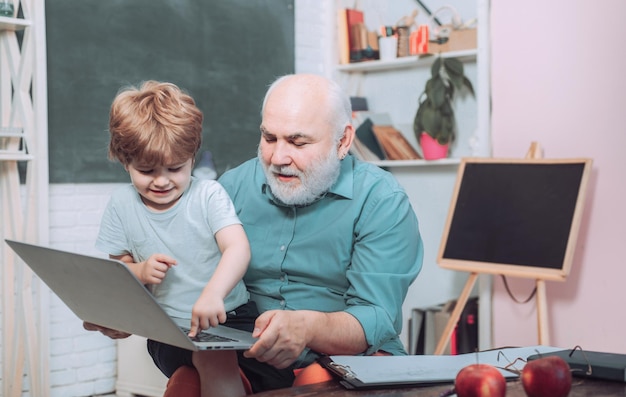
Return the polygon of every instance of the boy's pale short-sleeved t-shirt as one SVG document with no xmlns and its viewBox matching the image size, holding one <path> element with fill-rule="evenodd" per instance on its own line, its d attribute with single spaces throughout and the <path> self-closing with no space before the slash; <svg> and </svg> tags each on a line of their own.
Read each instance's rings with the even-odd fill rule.
<svg viewBox="0 0 626 397">
<path fill-rule="evenodd" d="M 191 308 L 221 258 L 215 233 L 241 224 L 222 185 L 192 177 L 174 207 L 152 212 L 132 185 L 116 190 L 104 211 L 96 247 L 109 255 L 130 253 L 136 262 L 166 254 L 177 264 L 161 284 L 149 285 L 156 300 L 172 317 L 191 318 Z M 226 312 L 248 302 L 243 281 L 224 300 Z M 129 302 L 132 304 L 132 302 Z"/>
</svg>

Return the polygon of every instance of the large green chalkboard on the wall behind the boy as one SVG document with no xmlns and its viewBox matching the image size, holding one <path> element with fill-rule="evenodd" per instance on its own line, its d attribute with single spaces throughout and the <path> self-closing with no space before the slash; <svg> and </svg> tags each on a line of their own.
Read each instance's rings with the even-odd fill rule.
<svg viewBox="0 0 626 397">
<path fill-rule="evenodd" d="M 218 173 L 256 155 L 267 85 L 294 71 L 293 0 L 46 2 L 51 183 L 126 182 L 107 159 L 122 86 L 169 81 L 203 111 Z"/>
</svg>

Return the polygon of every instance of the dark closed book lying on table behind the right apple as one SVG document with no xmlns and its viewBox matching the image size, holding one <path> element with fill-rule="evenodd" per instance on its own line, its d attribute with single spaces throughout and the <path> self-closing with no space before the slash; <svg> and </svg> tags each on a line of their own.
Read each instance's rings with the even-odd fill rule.
<svg viewBox="0 0 626 397">
<path fill-rule="evenodd" d="M 548 354 L 533 354 L 528 357 L 528 361 L 547 356 L 559 356 L 565 360 L 573 376 L 626 382 L 626 354 L 578 349 L 573 352 L 560 350 Z"/>
</svg>

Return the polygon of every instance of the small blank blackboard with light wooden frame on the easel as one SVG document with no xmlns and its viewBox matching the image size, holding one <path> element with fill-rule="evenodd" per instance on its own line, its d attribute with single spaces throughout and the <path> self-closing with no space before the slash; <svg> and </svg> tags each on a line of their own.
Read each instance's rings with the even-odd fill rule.
<svg viewBox="0 0 626 397">
<path fill-rule="evenodd" d="M 463 159 L 438 263 L 447 269 L 564 280 L 590 159 Z"/>
</svg>

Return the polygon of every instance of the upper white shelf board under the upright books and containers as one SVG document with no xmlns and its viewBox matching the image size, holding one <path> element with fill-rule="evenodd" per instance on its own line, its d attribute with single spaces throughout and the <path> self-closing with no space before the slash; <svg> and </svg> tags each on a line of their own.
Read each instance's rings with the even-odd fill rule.
<svg viewBox="0 0 626 397">
<path fill-rule="evenodd" d="M 445 58 L 458 58 L 460 61 L 475 61 L 477 50 L 451 51 L 441 53 Z M 364 61 L 337 66 L 337 70 L 345 73 L 380 72 L 416 66 L 430 66 L 437 59 L 435 55 L 413 55 L 389 61 Z"/>
</svg>

